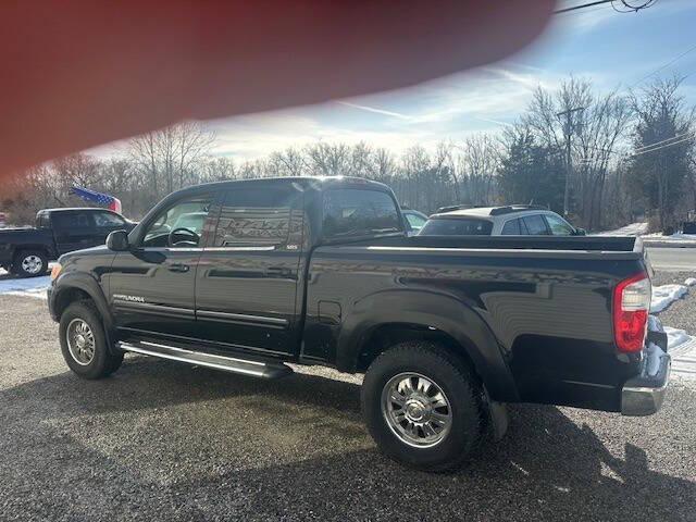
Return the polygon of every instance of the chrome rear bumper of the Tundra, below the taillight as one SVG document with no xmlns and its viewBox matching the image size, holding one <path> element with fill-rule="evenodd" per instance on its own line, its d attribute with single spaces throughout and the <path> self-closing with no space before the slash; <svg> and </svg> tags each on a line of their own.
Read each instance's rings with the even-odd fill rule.
<svg viewBox="0 0 696 522">
<path fill-rule="evenodd" d="M 670 380 L 671 358 L 650 343 L 644 351 L 643 370 L 626 381 L 621 390 L 621 414 L 651 415 L 662 406 Z"/>
</svg>

